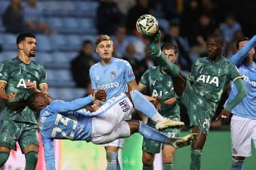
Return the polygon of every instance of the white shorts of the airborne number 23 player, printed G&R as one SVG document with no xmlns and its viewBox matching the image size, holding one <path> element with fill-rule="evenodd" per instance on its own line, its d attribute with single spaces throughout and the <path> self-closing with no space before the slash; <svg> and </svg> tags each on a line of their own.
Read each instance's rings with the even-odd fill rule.
<svg viewBox="0 0 256 170">
<path fill-rule="evenodd" d="M 122 147 L 123 139 L 110 139 L 111 136 L 115 136 L 110 135 L 110 133 L 125 120 L 132 110 L 133 105 L 124 93 L 109 99 L 97 110 L 97 112 L 100 112 L 99 116 L 92 119 L 92 143 Z M 111 143 L 109 144 L 109 142 Z"/>
</svg>

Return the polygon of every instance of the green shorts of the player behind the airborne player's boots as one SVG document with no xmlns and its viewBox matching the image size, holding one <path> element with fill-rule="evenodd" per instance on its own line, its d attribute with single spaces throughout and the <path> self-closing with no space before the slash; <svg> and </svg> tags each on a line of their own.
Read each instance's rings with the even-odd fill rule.
<svg viewBox="0 0 256 170">
<path fill-rule="evenodd" d="M 154 127 L 154 125 L 149 125 L 150 127 Z M 178 135 L 180 134 L 180 128 L 166 128 L 166 129 L 162 129 L 163 133 L 165 133 L 165 135 L 167 135 L 168 137 L 178 137 Z M 169 145 L 169 144 L 165 144 L 163 143 L 162 146 L 165 145 Z M 169 145 L 171 146 L 171 145 Z M 150 140 L 150 139 L 143 139 L 143 144 L 142 144 L 142 150 L 146 151 L 148 153 L 151 154 L 157 154 L 160 152 L 161 149 L 161 142 L 158 141 L 154 141 L 154 140 Z"/>
</svg>

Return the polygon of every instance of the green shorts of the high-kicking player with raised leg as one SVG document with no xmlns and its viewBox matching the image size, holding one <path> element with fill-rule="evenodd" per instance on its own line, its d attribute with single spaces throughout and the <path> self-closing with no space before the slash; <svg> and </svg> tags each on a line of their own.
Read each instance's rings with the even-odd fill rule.
<svg viewBox="0 0 256 170">
<path fill-rule="evenodd" d="M 182 96 L 178 96 L 177 99 L 179 105 L 187 110 L 190 126 L 198 126 L 207 136 L 214 111 L 208 102 L 193 90 L 188 79 Z"/>
</svg>

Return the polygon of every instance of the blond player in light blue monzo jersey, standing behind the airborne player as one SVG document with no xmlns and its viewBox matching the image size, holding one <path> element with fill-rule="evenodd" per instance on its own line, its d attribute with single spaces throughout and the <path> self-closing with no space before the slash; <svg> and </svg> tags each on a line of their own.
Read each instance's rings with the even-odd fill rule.
<svg viewBox="0 0 256 170">
<path fill-rule="evenodd" d="M 100 35 L 96 40 L 96 52 L 101 61 L 90 68 L 91 87 L 93 92 L 105 90 L 108 99 L 137 88 L 135 76 L 128 61 L 112 57 L 113 41 L 108 35 Z M 94 101 L 94 111 L 104 102 Z M 104 144 L 107 158 L 106 170 L 120 170 L 118 150 L 123 147 L 123 139 Z M 120 156 L 119 156 L 120 158 Z"/>
</svg>

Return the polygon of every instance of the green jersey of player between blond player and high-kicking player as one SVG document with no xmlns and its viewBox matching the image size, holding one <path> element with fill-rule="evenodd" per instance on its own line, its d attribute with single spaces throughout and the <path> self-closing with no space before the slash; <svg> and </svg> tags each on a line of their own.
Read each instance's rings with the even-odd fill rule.
<svg viewBox="0 0 256 170">
<path fill-rule="evenodd" d="M 151 67 L 143 74 L 140 82 L 150 89 L 151 96 L 161 97 L 164 95 L 164 98 L 159 100 L 159 103 L 161 104 L 159 113 L 163 117 L 180 120 L 180 107 L 177 102 L 173 105 L 163 104 L 167 99 L 175 97 L 171 76 L 164 75 L 160 67 Z"/>
</svg>

